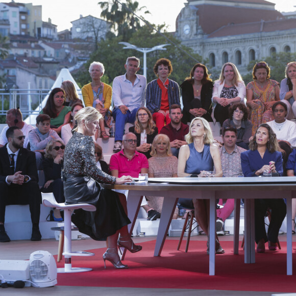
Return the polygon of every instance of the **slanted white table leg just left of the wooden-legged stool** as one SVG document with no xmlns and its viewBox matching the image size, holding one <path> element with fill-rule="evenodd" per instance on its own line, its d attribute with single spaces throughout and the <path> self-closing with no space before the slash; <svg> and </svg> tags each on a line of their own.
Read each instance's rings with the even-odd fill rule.
<svg viewBox="0 0 296 296">
<path fill-rule="evenodd" d="M 164 196 L 162 211 L 159 221 L 154 256 L 160 256 L 163 244 L 168 232 L 172 215 L 174 215 L 178 199 L 166 198 Z"/>
</svg>

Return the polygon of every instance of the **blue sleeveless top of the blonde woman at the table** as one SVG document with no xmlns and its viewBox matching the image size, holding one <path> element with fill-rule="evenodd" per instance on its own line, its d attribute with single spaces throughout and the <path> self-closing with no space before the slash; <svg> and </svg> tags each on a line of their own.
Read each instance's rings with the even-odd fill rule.
<svg viewBox="0 0 296 296">
<path fill-rule="evenodd" d="M 209 144 L 205 144 L 202 152 L 196 151 L 193 143 L 188 146 L 190 155 L 185 166 L 187 174 L 200 174 L 201 170 L 214 170 L 214 161 L 210 153 Z"/>
</svg>

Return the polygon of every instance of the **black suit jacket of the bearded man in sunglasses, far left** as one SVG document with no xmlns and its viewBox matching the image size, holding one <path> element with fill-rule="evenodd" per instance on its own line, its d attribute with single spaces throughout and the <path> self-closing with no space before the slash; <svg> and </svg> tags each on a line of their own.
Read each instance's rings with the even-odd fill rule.
<svg viewBox="0 0 296 296">
<path fill-rule="evenodd" d="M 3 182 L 5 182 L 7 176 L 11 175 L 6 145 L 0 148 L 0 181 Z M 32 181 L 38 182 L 35 153 L 25 148 L 20 148 L 16 159 L 15 171 L 21 171 L 21 175 L 27 175 Z"/>
</svg>

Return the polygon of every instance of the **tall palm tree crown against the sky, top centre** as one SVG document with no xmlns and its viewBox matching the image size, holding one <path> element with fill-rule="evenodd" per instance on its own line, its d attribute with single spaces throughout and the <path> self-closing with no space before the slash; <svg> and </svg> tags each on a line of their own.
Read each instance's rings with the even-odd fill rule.
<svg viewBox="0 0 296 296">
<path fill-rule="evenodd" d="M 140 20 L 134 13 L 150 13 L 143 11 L 145 6 L 139 7 L 139 3 L 133 0 L 126 0 L 120 5 L 115 0 L 108 0 L 98 3 L 101 6 L 101 17 L 112 22 L 112 29 L 120 36 L 120 41 L 128 41 L 132 33 L 141 27 Z"/>
</svg>

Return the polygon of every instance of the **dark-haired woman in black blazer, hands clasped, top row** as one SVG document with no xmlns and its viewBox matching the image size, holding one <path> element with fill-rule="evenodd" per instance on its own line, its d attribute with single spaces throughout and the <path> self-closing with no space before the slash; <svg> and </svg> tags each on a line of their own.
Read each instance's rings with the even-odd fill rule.
<svg viewBox="0 0 296 296">
<path fill-rule="evenodd" d="M 213 82 L 210 79 L 208 69 L 203 64 L 195 64 L 190 71 L 189 77 L 181 84 L 182 101 L 182 122 L 187 124 L 194 117 L 201 116 L 207 121 L 213 121 L 212 114 L 212 93 Z"/>
</svg>

